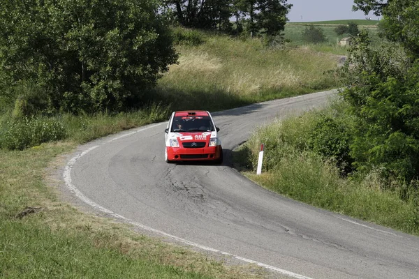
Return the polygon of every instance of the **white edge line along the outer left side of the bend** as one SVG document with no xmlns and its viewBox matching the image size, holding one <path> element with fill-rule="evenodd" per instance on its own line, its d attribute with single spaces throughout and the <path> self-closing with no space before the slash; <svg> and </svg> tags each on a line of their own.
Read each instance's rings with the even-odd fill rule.
<svg viewBox="0 0 419 279">
<path fill-rule="evenodd" d="M 126 135 L 115 137 L 114 139 L 109 140 L 106 143 L 113 142 L 113 141 L 118 140 L 118 139 L 120 139 L 122 137 L 126 137 L 128 135 L 133 135 L 135 133 L 138 133 L 138 132 L 141 132 L 143 130 L 147 130 L 149 128 L 153 128 L 153 127 L 159 126 L 159 125 L 161 125 L 161 123 L 156 124 L 154 126 L 149 126 L 147 128 L 142 128 L 140 130 L 136 130 L 136 131 L 134 131 L 132 133 L 128 133 Z M 66 186 L 70 190 L 72 190 L 73 193 L 75 193 L 75 195 L 79 199 L 82 200 L 82 202 L 84 202 L 86 204 L 89 204 L 89 206 L 94 207 L 95 209 L 98 209 L 98 210 L 100 210 L 100 211 L 102 211 L 104 213 L 107 213 L 107 214 L 109 214 L 110 216 L 112 216 L 114 218 L 122 219 L 122 220 L 126 221 L 127 223 L 129 223 L 131 225 L 135 225 L 136 227 L 140 227 L 141 229 L 145 229 L 145 230 L 147 230 L 149 232 L 155 232 L 157 234 L 161 234 L 163 236 L 166 236 L 166 237 L 168 237 L 170 239 L 174 239 L 174 240 L 179 241 L 181 243 L 184 243 L 186 245 L 193 246 L 193 247 L 196 247 L 196 248 L 200 248 L 200 249 L 203 249 L 203 250 L 207 250 L 207 251 L 210 251 L 210 252 L 219 252 L 222 255 L 226 255 L 226 256 L 229 256 L 229 257 L 234 257 L 235 259 L 239 259 L 242 262 L 247 262 L 249 264 L 256 264 L 258 266 L 264 267 L 265 269 L 270 269 L 272 271 L 277 271 L 279 273 L 282 273 L 282 274 L 284 274 L 286 276 L 291 276 L 293 278 L 297 278 L 297 279 L 312 279 L 312 278 L 309 278 L 307 276 L 302 276 L 300 274 L 293 273 L 292 271 L 286 271 L 285 269 L 279 269 L 279 268 L 277 268 L 275 266 L 270 266 L 269 264 L 263 264 L 261 262 L 256 262 L 253 259 L 247 259 L 247 258 L 244 258 L 244 257 L 240 257 L 240 256 L 237 256 L 237 255 L 230 254 L 228 252 L 223 252 L 221 250 L 216 250 L 214 248 L 210 248 L 210 247 L 207 247 L 207 246 L 202 246 L 202 245 L 200 245 L 198 243 L 194 243 L 194 242 L 188 241 L 186 239 L 181 239 L 180 237 L 174 236 L 172 234 L 168 234 L 166 232 L 159 231 L 158 229 L 153 229 L 152 227 L 147 227 L 146 225 L 142 225 L 140 223 L 133 222 L 132 220 L 130 220 L 130 219 L 124 217 L 124 216 L 121 216 L 121 215 L 119 215 L 119 214 L 117 214 L 117 213 L 115 213 L 113 211 L 110 211 L 109 209 L 105 209 L 105 207 L 103 207 L 103 206 L 101 206 L 99 204 L 96 204 L 96 202 L 93 202 L 91 199 L 89 199 L 88 197 L 86 197 L 85 195 L 83 195 L 83 193 L 80 190 L 78 190 L 78 188 L 75 185 L 73 185 L 73 183 L 71 181 L 71 169 L 73 168 L 73 165 L 76 163 L 76 161 L 78 159 L 80 159 L 82 156 L 86 155 L 90 151 L 96 149 L 98 146 L 99 145 L 92 146 L 89 149 L 87 149 L 87 150 L 83 151 L 82 153 L 78 154 L 77 156 L 74 156 L 73 158 L 71 158 L 71 160 L 68 161 L 68 163 L 67 163 L 67 165 L 66 165 L 66 167 L 64 169 L 63 178 L 64 178 L 64 182 L 66 183 Z"/>
</svg>

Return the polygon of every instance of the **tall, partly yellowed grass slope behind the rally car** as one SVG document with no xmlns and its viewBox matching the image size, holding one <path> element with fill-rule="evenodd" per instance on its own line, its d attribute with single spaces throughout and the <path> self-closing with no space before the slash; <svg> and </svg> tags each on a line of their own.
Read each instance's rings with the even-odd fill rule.
<svg viewBox="0 0 419 279">
<path fill-rule="evenodd" d="M 296 96 L 337 86 L 325 71 L 337 57 L 309 48 L 267 49 L 259 39 L 205 37 L 196 47 L 179 45 L 179 64 L 150 93 L 177 109 L 226 110 L 264 100 Z"/>
</svg>

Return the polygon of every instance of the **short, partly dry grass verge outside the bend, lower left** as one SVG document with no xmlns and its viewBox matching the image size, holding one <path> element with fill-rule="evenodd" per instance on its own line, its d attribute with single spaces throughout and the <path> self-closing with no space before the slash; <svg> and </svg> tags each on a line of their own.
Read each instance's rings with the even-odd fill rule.
<svg viewBox="0 0 419 279">
<path fill-rule="evenodd" d="M 0 277 L 263 277 L 254 266 L 225 266 L 61 201 L 50 173 L 66 163 L 60 154 L 75 146 L 58 142 L 0 150 Z M 20 218 L 27 206 L 40 211 Z"/>
</svg>

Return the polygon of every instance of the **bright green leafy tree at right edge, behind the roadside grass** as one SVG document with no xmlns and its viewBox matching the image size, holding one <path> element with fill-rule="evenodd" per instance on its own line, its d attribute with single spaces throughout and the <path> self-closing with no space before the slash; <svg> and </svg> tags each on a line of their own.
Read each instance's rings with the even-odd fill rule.
<svg viewBox="0 0 419 279">
<path fill-rule="evenodd" d="M 358 170 L 383 167 L 402 181 L 419 173 L 418 66 L 394 44 L 371 47 L 365 31 L 355 40 L 343 72 L 351 87 L 342 96 L 356 116 L 351 156 Z"/>
</svg>

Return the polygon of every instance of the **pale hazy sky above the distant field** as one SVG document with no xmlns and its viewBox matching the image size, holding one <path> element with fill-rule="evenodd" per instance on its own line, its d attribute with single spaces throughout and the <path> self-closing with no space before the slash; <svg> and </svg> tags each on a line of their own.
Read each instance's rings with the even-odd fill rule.
<svg viewBox="0 0 419 279">
<path fill-rule="evenodd" d="M 365 20 L 362 11 L 352 11 L 353 0 L 288 0 L 293 4 L 288 22 L 319 22 L 326 20 Z M 370 14 L 372 20 L 378 20 Z"/>
</svg>

